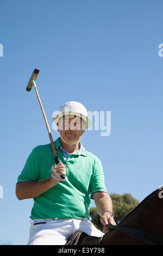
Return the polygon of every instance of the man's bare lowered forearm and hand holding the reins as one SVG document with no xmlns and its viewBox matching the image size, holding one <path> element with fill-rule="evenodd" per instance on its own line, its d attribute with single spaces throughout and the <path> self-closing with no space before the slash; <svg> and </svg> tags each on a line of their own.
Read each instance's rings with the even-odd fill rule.
<svg viewBox="0 0 163 256">
<path fill-rule="evenodd" d="M 106 233 L 109 230 L 109 228 L 105 227 L 106 225 L 108 224 L 116 225 L 114 218 L 111 216 L 112 214 L 111 197 L 109 196 L 109 194 L 105 192 L 96 192 L 96 193 L 93 193 L 93 199 L 95 200 L 98 214 L 101 216 L 101 223 L 104 225 L 104 232 Z"/>
</svg>

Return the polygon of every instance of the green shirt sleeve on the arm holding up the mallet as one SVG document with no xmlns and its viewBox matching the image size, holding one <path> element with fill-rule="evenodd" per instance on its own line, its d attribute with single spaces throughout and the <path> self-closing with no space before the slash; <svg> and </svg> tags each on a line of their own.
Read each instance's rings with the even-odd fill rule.
<svg viewBox="0 0 163 256">
<path fill-rule="evenodd" d="M 37 149 L 33 149 L 32 153 L 30 153 L 26 164 L 21 172 L 21 174 L 17 178 L 17 182 L 21 181 L 37 181 L 40 176 L 40 163 L 39 157 L 37 154 Z"/>
</svg>

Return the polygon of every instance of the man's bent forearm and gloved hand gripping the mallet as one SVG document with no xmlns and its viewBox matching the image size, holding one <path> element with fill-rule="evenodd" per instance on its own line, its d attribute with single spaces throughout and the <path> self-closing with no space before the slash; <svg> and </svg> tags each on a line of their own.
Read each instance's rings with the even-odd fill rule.
<svg viewBox="0 0 163 256">
<path fill-rule="evenodd" d="M 66 166 L 62 163 L 59 163 L 55 166 L 55 172 L 59 176 L 66 176 Z M 40 194 L 46 192 L 51 187 L 58 184 L 57 180 L 54 180 L 52 177 L 40 181 L 23 181 L 17 182 L 16 184 L 16 196 L 19 200 L 34 198 L 40 196 Z"/>
</svg>

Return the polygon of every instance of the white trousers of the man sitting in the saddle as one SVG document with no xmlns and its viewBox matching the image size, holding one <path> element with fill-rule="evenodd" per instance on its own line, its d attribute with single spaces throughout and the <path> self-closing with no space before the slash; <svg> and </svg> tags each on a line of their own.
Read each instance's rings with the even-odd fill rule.
<svg viewBox="0 0 163 256">
<path fill-rule="evenodd" d="M 28 245 L 65 245 L 68 238 L 79 231 L 98 237 L 104 235 L 102 231 L 85 219 L 66 218 L 60 220 L 55 218 L 34 220 L 30 227 Z"/>
</svg>

